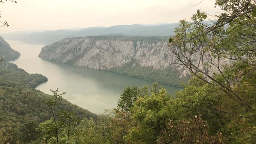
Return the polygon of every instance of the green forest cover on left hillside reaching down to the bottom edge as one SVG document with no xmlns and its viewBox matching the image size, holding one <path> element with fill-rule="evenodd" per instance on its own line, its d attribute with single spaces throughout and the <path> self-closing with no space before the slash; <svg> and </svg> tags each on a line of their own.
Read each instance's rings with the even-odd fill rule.
<svg viewBox="0 0 256 144">
<path fill-rule="evenodd" d="M 35 80 L 44 79 L 42 75 L 30 75 L 12 63 L 8 63 L 8 69 L 5 69 L 6 64 L 0 63 L 0 143 L 29 143 L 35 140 L 41 143 L 43 133 L 39 130 L 39 123 L 51 118 L 51 111 L 44 103 L 53 97 L 26 85 L 35 75 Z M 38 82 L 42 81 L 38 80 L 36 85 Z M 63 98 L 56 106 L 56 111 L 60 110 L 61 118 L 65 120 L 69 120 L 71 115 L 67 111 L 75 111 L 80 119 L 97 117 Z M 68 128 L 71 129 L 66 127 L 65 130 Z"/>
</svg>

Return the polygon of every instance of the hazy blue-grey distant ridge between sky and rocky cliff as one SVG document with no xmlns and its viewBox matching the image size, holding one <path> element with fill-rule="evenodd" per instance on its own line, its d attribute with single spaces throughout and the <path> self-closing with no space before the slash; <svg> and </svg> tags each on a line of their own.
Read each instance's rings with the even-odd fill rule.
<svg viewBox="0 0 256 144">
<path fill-rule="evenodd" d="M 170 36 L 178 23 L 161 25 L 119 25 L 111 27 L 89 27 L 84 29 L 60 29 L 45 32 L 15 32 L 5 33 L 5 39 L 22 41 L 26 43 L 50 44 L 67 37 L 121 35 L 121 36 Z"/>
</svg>

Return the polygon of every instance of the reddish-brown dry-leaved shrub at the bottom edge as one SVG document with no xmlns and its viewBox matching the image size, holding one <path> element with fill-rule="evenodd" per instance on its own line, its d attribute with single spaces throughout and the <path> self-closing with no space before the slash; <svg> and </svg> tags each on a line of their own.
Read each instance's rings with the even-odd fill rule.
<svg viewBox="0 0 256 144">
<path fill-rule="evenodd" d="M 207 122 L 197 115 L 194 119 L 181 120 L 177 124 L 170 121 L 162 131 L 158 144 L 216 144 L 222 143 L 222 135 L 210 136 Z"/>
</svg>

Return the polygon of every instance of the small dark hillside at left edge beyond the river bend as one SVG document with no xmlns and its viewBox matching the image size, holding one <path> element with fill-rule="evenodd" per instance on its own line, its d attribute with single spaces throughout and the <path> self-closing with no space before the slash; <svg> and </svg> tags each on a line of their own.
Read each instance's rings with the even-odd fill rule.
<svg viewBox="0 0 256 144">
<path fill-rule="evenodd" d="M 4 61 L 11 61 L 18 59 L 20 57 L 20 53 L 13 50 L 10 45 L 0 36 L 0 57 L 3 58 Z"/>
</svg>

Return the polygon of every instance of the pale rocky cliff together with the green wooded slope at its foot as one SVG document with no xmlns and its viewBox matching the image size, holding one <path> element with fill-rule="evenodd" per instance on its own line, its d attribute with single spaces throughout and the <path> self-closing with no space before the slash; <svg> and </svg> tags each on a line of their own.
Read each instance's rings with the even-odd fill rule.
<svg viewBox="0 0 256 144">
<path fill-rule="evenodd" d="M 189 77 L 172 63 L 167 38 L 160 36 L 66 38 L 44 46 L 39 57 L 172 86 L 186 83 Z"/>
</svg>

